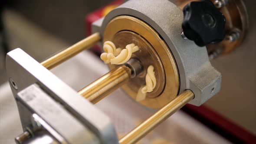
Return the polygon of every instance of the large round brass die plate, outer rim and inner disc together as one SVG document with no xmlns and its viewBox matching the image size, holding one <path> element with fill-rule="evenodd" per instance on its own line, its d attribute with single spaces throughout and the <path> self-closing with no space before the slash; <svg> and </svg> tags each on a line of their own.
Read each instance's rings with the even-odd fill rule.
<svg viewBox="0 0 256 144">
<path fill-rule="evenodd" d="M 140 47 L 132 57 L 142 62 L 145 72 L 122 87 L 131 98 L 136 99 L 139 88 L 145 84 L 143 79 L 145 81 L 149 65 L 155 67 L 157 86 L 144 100 L 138 102 L 150 108 L 162 108 L 177 96 L 180 83 L 175 59 L 167 44 L 151 26 L 132 16 L 117 16 L 105 28 L 103 42 L 108 40 L 123 49 L 131 42 Z M 115 66 L 109 65 L 110 69 Z"/>
</svg>

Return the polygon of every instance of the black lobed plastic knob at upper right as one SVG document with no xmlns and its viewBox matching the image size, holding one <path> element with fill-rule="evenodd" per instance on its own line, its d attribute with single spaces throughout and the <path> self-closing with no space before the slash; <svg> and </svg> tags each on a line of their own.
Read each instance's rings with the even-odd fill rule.
<svg viewBox="0 0 256 144">
<path fill-rule="evenodd" d="M 224 39 L 225 16 L 210 0 L 191 2 L 184 7 L 183 13 L 184 36 L 193 40 L 197 46 L 206 46 Z"/>
</svg>

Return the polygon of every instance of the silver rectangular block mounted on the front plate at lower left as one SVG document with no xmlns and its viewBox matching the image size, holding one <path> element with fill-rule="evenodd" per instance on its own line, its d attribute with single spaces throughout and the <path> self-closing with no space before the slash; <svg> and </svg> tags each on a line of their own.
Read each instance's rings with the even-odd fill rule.
<svg viewBox="0 0 256 144">
<path fill-rule="evenodd" d="M 37 121 L 61 144 L 99 144 L 95 134 L 70 114 L 62 105 L 47 95 L 38 85 L 30 85 L 17 94 L 17 102 L 31 111 Z M 30 121 L 31 117 L 26 117 Z M 72 125 L 72 127 L 70 127 Z M 29 127 L 29 125 L 27 125 Z M 36 135 L 36 134 L 35 134 Z"/>
</svg>

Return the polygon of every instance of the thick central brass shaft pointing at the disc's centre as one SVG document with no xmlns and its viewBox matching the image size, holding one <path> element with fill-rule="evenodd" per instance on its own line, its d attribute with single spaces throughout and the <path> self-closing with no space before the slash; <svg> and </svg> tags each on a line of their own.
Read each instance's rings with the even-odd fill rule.
<svg viewBox="0 0 256 144">
<path fill-rule="evenodd" d="M 131 78 L 131 69 L 121 65 L 78 91 L 93 104 L 120 88 Z"/>
</svg>

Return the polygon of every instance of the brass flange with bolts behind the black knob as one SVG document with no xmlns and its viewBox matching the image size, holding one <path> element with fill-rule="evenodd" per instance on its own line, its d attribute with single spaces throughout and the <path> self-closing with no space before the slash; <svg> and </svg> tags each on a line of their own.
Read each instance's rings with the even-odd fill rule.
<svg viewBox="0 0 256 144">
<path fill-rule="evenodd" d="M 191 1 L 200 0 L 177 0 L 175 3 L 183 10 Z M 216 0 L 211 1 L 215 3 Z M 219 8 L 219 10 L 226 18 L 226 38 L 219 43 L 209 44 L 206 47 L 208 54 L 220 50 L 222 55 L 226 55 L 235 50 L 243 42 L 249 27 L 248 14 L 243 0 L 228 0 L 226 1 L 226 5 Z M 235 40 L 230 41 L 228 37 L 233 33 L 239 33 L 239 36 Z"/>
</svg>

